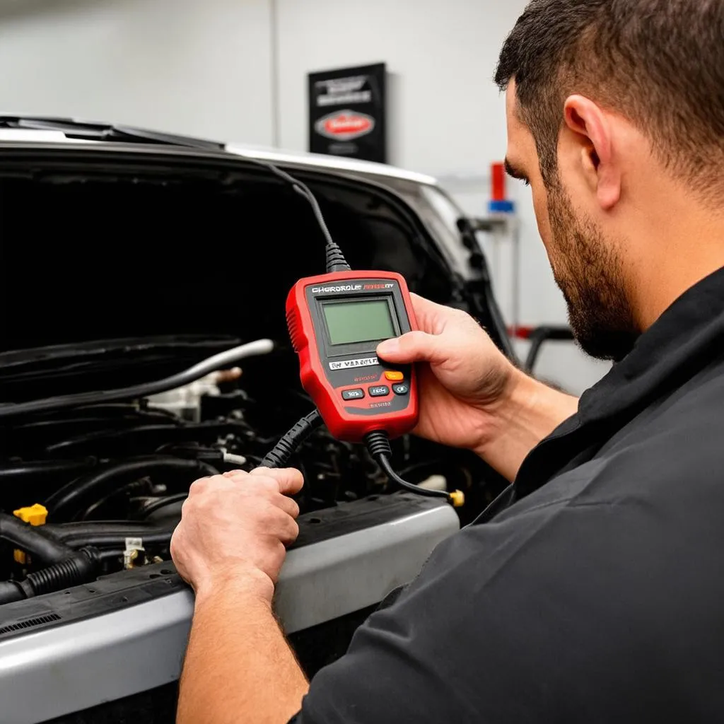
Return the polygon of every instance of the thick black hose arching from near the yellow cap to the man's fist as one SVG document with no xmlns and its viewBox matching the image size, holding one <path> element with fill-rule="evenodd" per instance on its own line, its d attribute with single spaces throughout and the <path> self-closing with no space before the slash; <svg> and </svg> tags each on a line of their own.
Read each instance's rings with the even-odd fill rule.
<svg viewBox="0 0 724 724">
<path fill-rule="evenodd" d="M 45 505 L 53 521 L 72 518 L 120 485 L 159 472 L 188 473 L 189 477 L 217 474 L 216 468 L 201 460 L 184 460 L 170 456 L 130 458 L 121 463 L 111 463 L 64 485 L 46 500 Z"/>
</svg>

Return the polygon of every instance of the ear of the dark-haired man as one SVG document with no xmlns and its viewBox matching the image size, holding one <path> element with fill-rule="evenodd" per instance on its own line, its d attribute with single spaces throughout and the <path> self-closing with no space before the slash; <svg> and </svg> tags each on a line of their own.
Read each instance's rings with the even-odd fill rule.
<svg viewBox="0 0 724 724">
<path fill-rule="evenodd" d="M 564 119 L 581 154 L 581 173 L 601 208 L 610 211 L 621 195 L 621 174 L 614 163 L 610 119 L 600 106 L 584 96 L 566 99 Z"/>
</svg>

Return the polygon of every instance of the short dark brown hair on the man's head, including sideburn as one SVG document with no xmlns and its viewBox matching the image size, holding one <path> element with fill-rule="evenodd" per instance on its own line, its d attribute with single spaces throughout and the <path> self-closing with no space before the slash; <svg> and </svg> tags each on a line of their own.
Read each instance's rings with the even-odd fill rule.
<svg viewBox="0 0 724 724">
<path fill-rule="evenodd" d="M 518 114 L 557 177 L 563 104 L 581 93 L 622 114 L 671 172 L 724 183 L 724 0 L 532 0 L 500 53 Z"/>
</svg>

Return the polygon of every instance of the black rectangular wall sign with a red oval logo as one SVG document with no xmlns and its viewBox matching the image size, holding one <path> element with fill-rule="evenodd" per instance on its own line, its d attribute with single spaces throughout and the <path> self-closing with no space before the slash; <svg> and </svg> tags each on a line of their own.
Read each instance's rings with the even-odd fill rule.
<svg viewBox="0 0 724 724">
<path fill-rule="evenodd" d="M 309 150 L 387 161 L 385 65 L 309 74 Z"/>
</svg>

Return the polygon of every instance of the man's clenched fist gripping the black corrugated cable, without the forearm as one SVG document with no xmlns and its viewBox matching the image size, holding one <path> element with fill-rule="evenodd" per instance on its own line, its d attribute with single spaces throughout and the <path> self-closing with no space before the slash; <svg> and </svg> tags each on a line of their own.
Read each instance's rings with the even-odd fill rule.
<svg viewBox="0 0 724 724">
<path fill-rule="evenodd" d="M 302 473 L 291 468 L 232 471 L 195 481 L 171 539 L 178 572 L 197 599 L 225 584 L 271 602 L 285 544 L 299 529 Z"/>
</svg>

